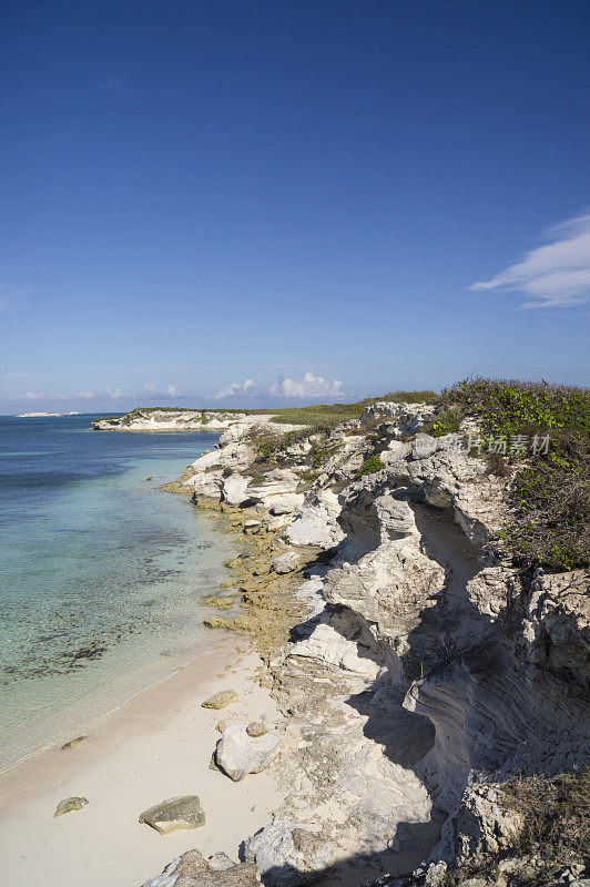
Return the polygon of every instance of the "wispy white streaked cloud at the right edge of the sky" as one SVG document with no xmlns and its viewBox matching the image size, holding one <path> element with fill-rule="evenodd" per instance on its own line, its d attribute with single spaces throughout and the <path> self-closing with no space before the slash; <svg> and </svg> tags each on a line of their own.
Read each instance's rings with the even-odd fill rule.
<svg viewBox="0 0 590 887">
<path fill-rule="evenodd" d="M 550 228 L 538 246 L 470 289 L 523 293 L 521 308 L 563 308 L 590 302 L 590 213 Z"/>
</svg>

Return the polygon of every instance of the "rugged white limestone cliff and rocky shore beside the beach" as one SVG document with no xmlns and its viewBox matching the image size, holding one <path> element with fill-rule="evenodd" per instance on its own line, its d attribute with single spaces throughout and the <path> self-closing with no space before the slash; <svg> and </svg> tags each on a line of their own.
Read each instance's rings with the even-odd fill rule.
<svg viewBox="0 0 590 887">
<path fill-rule="evenodd" d="M 154 887 L 467 884 L 474 859 L 518 857 L 498 784 L 588 761 L 588 571 L 512 567 L 506 478 L 456 446 L 468 422 L 425 447 L 433 410 L 376 402 L 271 458 L 263 417 L 234 416 L 190 467 L 182 490 L 243 540 L 207 624 L 265 662 L 285 801 L 235 870 L 203 879 L 193 856 Z M 546 865 L 518 858 L 477 887 Z"/>
</svg>

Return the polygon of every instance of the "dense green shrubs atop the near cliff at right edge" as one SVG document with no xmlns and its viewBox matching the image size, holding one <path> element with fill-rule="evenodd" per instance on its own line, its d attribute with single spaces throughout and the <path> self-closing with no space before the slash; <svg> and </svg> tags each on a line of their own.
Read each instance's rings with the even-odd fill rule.
<svg viewBox="0 0 590 887">
<path fill-rule="evenodd" d="M 588 565 L 590 391 L 478 378 L 446 389 L 440 402 L 430 434 L 456 431 L 470 416 L 481 429 L 485 450 L 494 439 L 506 442 L 506 456 L 488 457 L 496 473 L 509 473 L 510 462 L 523 463 L 510 487 L 515 517 L 501 532 L 518 561 L 552 570 Z M 518 436 L 529 446 L 511 451 Z"/>
</svg>

